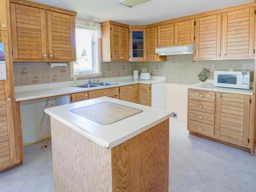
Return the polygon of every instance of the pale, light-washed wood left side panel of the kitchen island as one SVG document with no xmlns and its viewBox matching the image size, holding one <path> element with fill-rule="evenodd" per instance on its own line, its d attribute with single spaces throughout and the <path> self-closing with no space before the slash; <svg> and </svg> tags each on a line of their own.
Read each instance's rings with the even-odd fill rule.
<svg viewBox="0 0 256 192">
<path fill-rule="evenodd" d="M 111 150 L 51 117 L 55 192 L 112 192 Z"/>
</svg>

